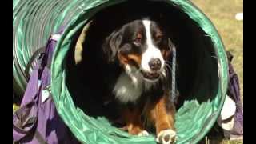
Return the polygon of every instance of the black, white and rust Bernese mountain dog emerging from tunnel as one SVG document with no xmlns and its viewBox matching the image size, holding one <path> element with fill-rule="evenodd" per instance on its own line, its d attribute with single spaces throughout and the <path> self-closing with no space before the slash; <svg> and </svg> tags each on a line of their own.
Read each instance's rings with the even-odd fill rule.
<svg viewBox="0 0 256 144">
<path fill-rule="evenodd" d="M 127 104 L 122 120 L 130 134 L 148 134 L 142 115 L 154 123 L 158 142 L 174 141 L 174 103 L 170 101 L 170 46 L 166 31 L 150 18 L 126 23 L 106 38 L 103 52 L 118 61 L 122 72 L 112 93 Z M 115 58 L 116 57 L 116 58 Z M 131 104 L 131 105 L 128 105 Z"/>
</svg>

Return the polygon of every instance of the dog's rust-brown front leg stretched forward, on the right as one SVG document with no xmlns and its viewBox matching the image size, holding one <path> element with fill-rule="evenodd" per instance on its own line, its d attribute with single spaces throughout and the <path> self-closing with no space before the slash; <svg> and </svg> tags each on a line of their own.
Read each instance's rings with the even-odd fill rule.
<svg viewBox="0 0 256 144">
<path fill-rule="evenodd" d="M 176 132 L 174 127 L 175 107 L 173 102 L 168 102 L 166 95 L 158 99 L 147 107 L 147 113 L 150 120 L 154 122 L 156 128 L 156 141 L 167 144 L 174 143 L 176 140 Z"/>
</svg>

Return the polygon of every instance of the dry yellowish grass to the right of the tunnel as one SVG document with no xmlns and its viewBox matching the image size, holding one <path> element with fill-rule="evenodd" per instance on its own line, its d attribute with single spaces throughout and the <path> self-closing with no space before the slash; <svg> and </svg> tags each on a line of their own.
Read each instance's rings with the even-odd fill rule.
<svg viewBox="0 0 256 144">
<path fill-rule="evenodd" d="M 226 50 L 234 55 L 233 66 L 238 74 L 243 103 L 243 22 L 235 14 L 243 12 L 243 0 L 191 0 L 210 20 L 222 37 Z M 240 144 L 222 138 L 209 138 L 211 143 Z"/>
</svg>

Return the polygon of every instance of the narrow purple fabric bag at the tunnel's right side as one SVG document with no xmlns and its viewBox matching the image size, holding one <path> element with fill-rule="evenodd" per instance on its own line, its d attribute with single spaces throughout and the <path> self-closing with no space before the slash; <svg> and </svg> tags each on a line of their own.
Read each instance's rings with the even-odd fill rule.
<svg viewBox="0 0 256 144">
<path fill-rule="evenodd" d="M 231 64 L 233 55 L 230 52 L 227 52 L 229 59 L 229 74 L 230 82 L 227 90 L 227 94 L 232 98 L 236 104 L 236 111 L 234 114 L 234 127 L 230 131 L 230 137 L 235 138 L 243 135 L 243 109 L 242 102 L 240 97 L 240 87 L 238 81 L 238 74 L 235 73 L 234 68 Z"/>
</svg>

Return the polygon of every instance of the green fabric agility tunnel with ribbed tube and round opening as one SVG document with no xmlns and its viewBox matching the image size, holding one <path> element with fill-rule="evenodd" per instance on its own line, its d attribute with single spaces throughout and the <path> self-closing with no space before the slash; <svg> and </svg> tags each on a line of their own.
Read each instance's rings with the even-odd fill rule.
<svg viewBox="0 0 256 144">
<path fill-rule="evenodd" d="M 26 64 L 50 34 L 66 26 L 51 62 L 51 90 L 58 114 L 82 143 L 155 143 L 148 137 L 130 135 L 111 126 L 103 117 L 90 117 L 77 106 L 66 83 L 67 59 L 78 35 L 94 15 L 127 0 L 13 0 L 13 89 L 26 89 Z M 129 1 L 136 2 L 136 1 Z M 148 1 L 145 1 L 148 2 Z M 175 126 L 178 143 L 197 143 L 214 126 L 222 110 L 228 84 L 226 50 L 202 11 L 186 0 L 162 0 L 177 31 L 177 78 L 181 98 Z M 166 10 L 166 11 L 168 11 Z M 178 26 L 178 27 L 175 27 Z M 90 29 L 90 26 L 89 26 Z M 35 60 L 36 62 L 36 60 Z M 30 70 L 33 69 L 32 63 Z"/>
</svg>

